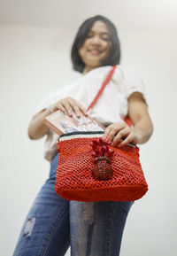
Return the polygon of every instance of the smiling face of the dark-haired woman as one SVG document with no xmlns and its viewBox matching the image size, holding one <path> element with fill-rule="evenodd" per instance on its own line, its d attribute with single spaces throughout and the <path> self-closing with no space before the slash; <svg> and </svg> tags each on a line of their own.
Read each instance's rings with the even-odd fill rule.
<svg viewBox="0 0 177 256">
<path fill-rule="evenodd" d="M 101 60 L 109 56 L 111 46 L 112 41 L 108 27 L 103 21 L 97 20 L 79 49 L 81 60 L 85 64 L 83 74 L 101 66 Z"/>
</svg>

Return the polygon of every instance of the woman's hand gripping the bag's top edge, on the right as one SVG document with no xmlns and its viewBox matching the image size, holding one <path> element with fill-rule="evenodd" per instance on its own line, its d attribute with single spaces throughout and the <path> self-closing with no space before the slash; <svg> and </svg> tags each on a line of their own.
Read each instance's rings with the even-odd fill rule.
<svg viewBox="0 0 177 256">
<path fill-rule="evenodd" d="M 125 139 L 120 142 L 120 139 Z M 104 130 L 104 140 L 112 142 L 112 146 L 121 147 L 129 143 L 141 144 L 142 134 L 135 128 L 130 128 L 126 122 L 112 123 Z"/>
</svg>

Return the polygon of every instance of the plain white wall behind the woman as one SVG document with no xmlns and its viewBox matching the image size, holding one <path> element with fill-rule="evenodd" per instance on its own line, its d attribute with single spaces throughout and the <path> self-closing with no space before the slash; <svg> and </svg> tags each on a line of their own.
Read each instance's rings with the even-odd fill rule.
<svg viewBox="0 0 177 256">
<path fill-rule="evenodd" d="M 176 7 L 173 0 L 0 1 L 1 255 L 12 255 L 49 175 L 45 138 L 30 141 L 28 123 L 46 93 L 80 76 L 70 61 L 73 37 L 84 19 L 98 13 L 118 27 L 121 62 L 148 81 L 155 128 L 141 145 L 149 191 L 127 217 L 120 255 L 176 255 Z"/>
</svg>

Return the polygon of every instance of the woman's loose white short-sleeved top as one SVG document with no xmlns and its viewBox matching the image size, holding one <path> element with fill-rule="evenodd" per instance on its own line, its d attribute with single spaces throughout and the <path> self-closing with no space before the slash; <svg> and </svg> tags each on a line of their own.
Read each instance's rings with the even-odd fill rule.
<svg viewBox="0 0 177 256">
<path fill-rule="evenodd" d="M 87 74 L 81 74 L 81 78 L 77 81 L 62 89 L 52 91 L 50 95 L 43 98 L 36 112 L 42 111 L 64 97 L 73 97 L 87 108 L 111 69 L 112 66 L 100 66 L 90 70 Z M 135 91 L 142 93 L 147 104 L 145 81 L 129 67 L 118 65 L 96 105 L 89 110 L 89 115 L 104 126 L 124 121 L 128 110 L 127 98 Z M 57 153 L 57 140 L 58 135 L 50 130 L 45 141 L 45 159 L 51 161 Z"/>
</svg>

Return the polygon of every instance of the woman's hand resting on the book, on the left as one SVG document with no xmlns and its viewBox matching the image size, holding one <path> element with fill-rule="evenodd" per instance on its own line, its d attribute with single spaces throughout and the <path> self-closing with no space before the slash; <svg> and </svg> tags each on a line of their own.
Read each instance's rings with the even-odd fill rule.
<svg viewBox="0 0 177 256">
<path fill-rule="evenodd" d="M 50 105 L 50 112 L 55 112 L 58 110 L 66 112 L 66 114 L 70 117 L 73 116 L 73 113 L 75 113 L 78 118 L 81 117 L 81 113 L 88 116 L 86 109 L 72 97 L 65 97 L 60 99 L 57 103 Z"/>
</svg>

